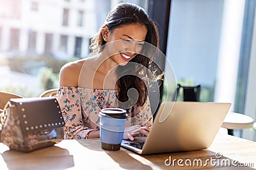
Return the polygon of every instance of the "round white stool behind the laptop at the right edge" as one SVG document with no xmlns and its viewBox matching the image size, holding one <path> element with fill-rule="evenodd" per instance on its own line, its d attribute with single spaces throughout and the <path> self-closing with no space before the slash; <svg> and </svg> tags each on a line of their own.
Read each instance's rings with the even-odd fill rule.
<svg viewBox="0 0 256 170">
<path fill-rule="evenodd" d="M 228 129 L 228 134 L 234 135 L 234 129 L 248 129 L 253 127 L 253 118 L 241 113 L 227 113 L 221 127 Z"/>
</svg>

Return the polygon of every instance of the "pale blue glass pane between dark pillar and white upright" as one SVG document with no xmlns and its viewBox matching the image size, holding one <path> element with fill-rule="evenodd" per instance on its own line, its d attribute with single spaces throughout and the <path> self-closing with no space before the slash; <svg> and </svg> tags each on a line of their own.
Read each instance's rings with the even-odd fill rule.
<svg viewBox="0 0 256 170">
<path fill-rule="evenodd" d="M 166 56 L 177 83 L 202 86 L 200 101 L 214 100 L 222 15 L 223 1 L 172 1 Z"/>
</svg>

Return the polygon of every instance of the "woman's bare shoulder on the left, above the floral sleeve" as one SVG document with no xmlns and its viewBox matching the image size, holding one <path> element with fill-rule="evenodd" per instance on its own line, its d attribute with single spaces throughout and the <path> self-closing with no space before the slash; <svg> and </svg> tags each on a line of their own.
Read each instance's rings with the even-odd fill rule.
<svg viewBox="0 0 256 170">
<path fill-rule="evenodd" d="M 68 62 L 60 71 L 60 86 L 77 87 L 79 74 L 85 59 Z"/>
</svg>

